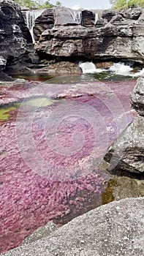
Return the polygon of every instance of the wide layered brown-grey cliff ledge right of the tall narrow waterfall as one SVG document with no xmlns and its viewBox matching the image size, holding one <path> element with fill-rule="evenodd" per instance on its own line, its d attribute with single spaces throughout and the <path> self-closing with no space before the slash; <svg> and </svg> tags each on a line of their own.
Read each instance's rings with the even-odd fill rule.
<svg viewBox="0 0 144 256">
<path fill-rule="evenodd" d="M 36 20 L 34 29 L 35 37 L 39 38 L 35 49 L 39 53 L 87 59 L 144 61 L 144 9 L 80 13 L 60 8 L 50 13 L 46 11 L 45 15 L 45 19 L 43 13 Z M 53 29 L 48 27 L 52 23 L 46 26 L 46 20 L 52 21 L 51 15 Z"/>
</svg>

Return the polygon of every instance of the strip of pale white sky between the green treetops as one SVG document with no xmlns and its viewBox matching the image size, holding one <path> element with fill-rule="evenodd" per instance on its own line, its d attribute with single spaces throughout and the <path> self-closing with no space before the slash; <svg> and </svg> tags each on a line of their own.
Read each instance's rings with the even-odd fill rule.
<svg viewBox="0 0 144 256">
<path fill-rule="evenodd" d="M 57 0 L 50 0 L 51 4 L 56 4 Z M 70 7 L 73 9 L 83 8 L 86 10 L 93 9 L 109 9 L 109 0 L 58 0 L 64 7 Z"/>
</svg>

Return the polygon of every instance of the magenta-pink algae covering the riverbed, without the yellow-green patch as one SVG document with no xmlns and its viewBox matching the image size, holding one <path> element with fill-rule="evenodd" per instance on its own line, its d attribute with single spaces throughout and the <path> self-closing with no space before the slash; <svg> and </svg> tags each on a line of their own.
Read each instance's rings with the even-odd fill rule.
<svg viewBox="0 0 144 256">
<path fill-rule="evenodd" d="M 121 132 L 118 131 L 117 121 L 115 121 L 115 118 L 121 118 L 121 116 L 118 116 L 118 105 L 113 105 L 115 110 L 115 116 L 113 116 L 112 106 L 106 104 L 107 98 L 114 104 L 113 98 L 110 98 L 113 92 L 121 102 L 124 108 L 121 115 L 126 116 L 126 124 L 120 128 L 124 129 L 135 116 L 134 110 L 131 110 L 129 99 L 134 84 L 134 81 L 109 82 L 105 85 L 102 83 L 103 88 L 98 89 L 95 82 L 82 86 L 83 89 L 81 89 L 81 85 L 76 85 L 73 90 L 71 90 L 72 85 L 62 85 L 61 92 L 54 91 L 54 96 L 52 96 L 64 97 L 68 103 L 67 106 L 70 106 L 70 102 L 75 108 L 78 102 L 78 104 L 83 103 L 84 106 L 88 105 L 96 110 L 101 117 L 99 120 L 103 120 L 104 127 L 107 128 L 107 146 L 109 146 L 118 137 L 118 132 Z M 1 104 L 19 102 L 20 99 L 29 98 L 31 86 L 13 86 L 9 89 L 3 87 L 1 89 Z M 107 86 L 110 91 L 105 89 Z M 41 96 L 39 92 L 37 95 Z M 58 143 L 63 148 L 71 147 L 72 135 L 77 131 L 80 134 L 83 133 L 84 143 L 74 154 L 59 154 L 58 145 L 56 150 L 53 150 L 54 124 L 48 123 L 49 120 L 52 120 L 48 119 L 48 113 L 58 111 L 58 104 L 61 104 L 61 100 L 54 102 L 53 105 L 37 108 L 34 112 L 32 126 L 34 150 L 39 152 L 46 163 L 50 163 L 48 165 L 51 167 L 49 176 L 45 172 L 42 173 L 39 159 L 36 159 L 35 164 L 37 165 L 38 162 L 39 168 L 34 166 L 34 162 L 32 168 L 31 164 L 28 165 L 27 160 L 23 157 L 25 152 L 26 157 L 28 156 L 30 159 L 33 157 L 34 152 L 31 151 L 32 147 L 29 143 L 23 141 L 22 148 L 18 146 L 17 129 L 21 127 L 26 135 L 28 130 L 23 129 L 23 124 L 28 111 L 31 112 L 33 107 L 22 106 L 19 110 L 12 110 L 10 119 L 0 122 L 0 252 L 20 245 L 26 236 L 48 221 L 62 225 L 69 219 L 102 203 L 102 193 L 105 191 L 110 177 L 102 173 L 96 164 L 91 169 L 88 161 L 95 155 L 98 160 L 103 157 L 106 150 L 104 139 L 106 133 L 102 131 L 101 124 L 99 124 L 95 137 L 94 129 L 88 122 L 89 119 L 87 120 L 86 116 L 83 116 L 83 112 L 81 118 L 78 119 L 75 116 L 62 118 L 57 127 Z M 88 107 L 88 110 L 91 108 Z M 19 113 L 21 111 L 20 119 L 17 119 L 18 111 Z M 22 152 L 23 148 L 24 153 Z M 91 152 L 93 153 L 91 154 Z M 53 177 L 50 178 L 50 175 Z"/>
</svg>

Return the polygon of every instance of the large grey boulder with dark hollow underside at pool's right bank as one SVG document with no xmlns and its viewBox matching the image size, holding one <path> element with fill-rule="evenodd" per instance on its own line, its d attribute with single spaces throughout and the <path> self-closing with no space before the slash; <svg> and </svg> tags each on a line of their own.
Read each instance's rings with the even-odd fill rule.
<svg viewBox="0 0 144 256">
<path fill-rule="evenodd" d="M 143 117 L 137 116 L 120 137 L 110 146 L 105 160 L 109 170 L 144 172 L 144 126 Z"/>
</svg>

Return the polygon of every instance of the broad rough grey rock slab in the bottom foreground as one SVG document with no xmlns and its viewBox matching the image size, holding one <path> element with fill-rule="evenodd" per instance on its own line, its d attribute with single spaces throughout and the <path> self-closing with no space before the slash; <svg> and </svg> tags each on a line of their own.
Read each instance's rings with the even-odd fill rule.
<svg viewBox="0 0 144 256">
<path fill-rule="evenodd" d="M 143 255 L 144 197 L 100 206 L 5 256 Z"/>
</svg>

